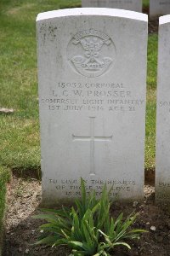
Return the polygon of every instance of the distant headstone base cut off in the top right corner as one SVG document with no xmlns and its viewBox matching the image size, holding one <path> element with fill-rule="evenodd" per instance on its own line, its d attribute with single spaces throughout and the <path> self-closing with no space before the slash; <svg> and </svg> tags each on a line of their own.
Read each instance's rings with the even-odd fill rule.
<svg viewBox="0 0 170 256">
<path fill-rule="evenodd" d="M 150 0 L 150 18 L 170 15 L 170 0 Z"/>
</svg>

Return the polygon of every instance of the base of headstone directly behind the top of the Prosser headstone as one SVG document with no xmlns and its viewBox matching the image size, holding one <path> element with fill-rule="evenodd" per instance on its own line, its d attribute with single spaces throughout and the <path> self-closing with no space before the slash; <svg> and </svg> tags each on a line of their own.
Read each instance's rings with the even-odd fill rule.
<svg viewBox="0 0 170 256">
<path fill-rule="evenodd" d="M 142 0 L 82 0 L 82 7 L 104 7 L 142 12 Z"/>
</svg>

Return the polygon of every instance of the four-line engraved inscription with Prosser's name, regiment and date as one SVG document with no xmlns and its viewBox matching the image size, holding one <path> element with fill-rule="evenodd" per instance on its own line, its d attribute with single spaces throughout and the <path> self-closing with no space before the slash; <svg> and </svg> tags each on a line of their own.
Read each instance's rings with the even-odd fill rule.
<svg viewBox="0 0 170 256">
<path fill-rule="evenodd" d="M 135 112 L 144 107 L 144 99 L 122 83 L 77 83 L 59 81 L 49 96 L 40 99 L 50 111 Z"/>
</svg>

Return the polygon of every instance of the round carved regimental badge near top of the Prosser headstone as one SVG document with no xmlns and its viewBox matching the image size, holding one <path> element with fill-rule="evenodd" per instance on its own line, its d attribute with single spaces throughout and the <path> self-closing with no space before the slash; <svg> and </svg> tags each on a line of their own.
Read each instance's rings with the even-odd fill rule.
<svg viewBox="0 0 170 256">
<path fill-rule="evenodd" d="M 94 29 L 78 32 L 67 48 L 74 71 L 88 78 L 99 77 L 111 68 L 116 49 L 111 38 Z M 113 57 L 112 57 L 113 56 Z"/>
</svg>

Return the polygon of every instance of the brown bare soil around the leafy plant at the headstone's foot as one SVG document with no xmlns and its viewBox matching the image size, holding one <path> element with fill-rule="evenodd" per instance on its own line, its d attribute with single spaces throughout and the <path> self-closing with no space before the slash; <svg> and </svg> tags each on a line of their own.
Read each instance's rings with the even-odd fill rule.
<svg viewBox="0 0 170 256">
<path fill-rule="evenodd" d="M 8 184 L 8 210 L 6 216 L 6 249 L 3 256 L 63 256 L 69 255 L 65 247 L 50 248 L 32 246 L 40 235 L 38 227 L 42 220 L 32 218 L 39 213 L 41 201 L 41 183 L 35 178 L 13 177 Z M 150 184 L 144 187 L 144 201 L 137 203 L 113 203 L 111 215 L 124 216 L 131 212 L 139 212 L 139 218 L 134 226 L 148 230 L 138 241 L 129 241 L 132 250 L 123 247 L 116 248 L 111 255 L 116 256 L 169 256 L 170 255 L 170 210 L 169 207 L 154 204 L 154 187 Z M 153 226 L 156 230 L 153 230 Z M 152 228 L 151 228 L 152 227 Z M 151 229 L 150 229 L 151 228 Z"/>
</svg>

